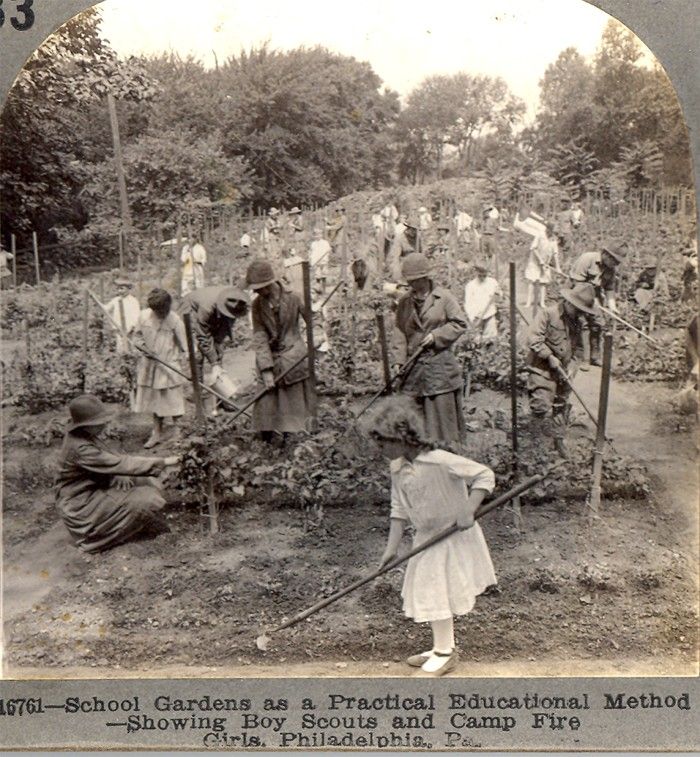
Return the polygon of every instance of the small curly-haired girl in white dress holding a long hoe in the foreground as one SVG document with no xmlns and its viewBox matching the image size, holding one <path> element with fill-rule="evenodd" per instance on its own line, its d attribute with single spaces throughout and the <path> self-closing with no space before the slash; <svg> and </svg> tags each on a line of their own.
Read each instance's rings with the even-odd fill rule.
<svg viewBox="0 0 700 757">
<path fill-rule="evenodd" d="M 401 590 L 405 614 L 417 623 L 430 623 L 433 632 L 431 649 L 406 662 L 441 676 L 458 660 L 454 616 L 470 612 L 476 597 L 496 583 L 484 535 L 474 521 L 494 488 L 494 474 L 474 460 L 435 449 L 405 397 L 386 400 L 369 433 L 391 460 L 391 524 L 380 566 L 396 556 L 407 524 L 415 528 L 414 547 L 454 523 L 460 527 L 408 561 Z"/>
</svg>

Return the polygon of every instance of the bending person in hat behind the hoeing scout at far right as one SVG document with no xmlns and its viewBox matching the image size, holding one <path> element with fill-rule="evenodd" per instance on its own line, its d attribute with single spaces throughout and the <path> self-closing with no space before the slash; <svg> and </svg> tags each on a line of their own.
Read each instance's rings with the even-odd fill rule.
<svg viewBox="0 0 700 757">
<path fill-rule="evenodd" d="M 615 284 L 617 267 L 624 260 L 622 248 L 612 245 L 604 246 L 600 252 L 584 252 L 574 260 L 569 278 L 571 285 L 592 284 L 595 295 L 601 305 L 615 311 Z M 600 335 L 605 326 L 605 320 L 600 311 L 586 314 L 581 321 L 581 346 L 583 348 L 583 364 L 581 370 L 587 370 L 588 365 L 600 365 Z"/>
</svg>

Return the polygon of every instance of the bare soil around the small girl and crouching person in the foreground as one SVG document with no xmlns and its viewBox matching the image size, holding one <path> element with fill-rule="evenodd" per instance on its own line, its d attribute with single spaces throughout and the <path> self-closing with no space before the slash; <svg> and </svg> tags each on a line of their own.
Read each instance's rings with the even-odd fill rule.
<svg viewBox="0 0 700 757">
<path fill-rule="evenodd" d="M 576 382 L 594 408 L 598 379 Z M 525 507 L 522 531 L 507 509 L 484 519 L 499 582 L 457 621 L 457 675 L 697 673 L 697 448 L 669 429 L 670 395 L 616 383 L 611 398 L 610 435 L 647 465 L 653 497 L 605 500 L 592 524 L 583 500 Z M 472 402 L 508 408 L 486 391 Z M 6 430 L 52 415 L 6 411 Z M 119 424 L 138 449 L 147 420 Z M 484 448 L 482 432 L 472 439 Z M 86 556 L 53 506 L 58 445 L 4 451 L 6 676 L 408 675 L 401 661 L 429 644 L 429 628 L 402 616 L 394 571 L 255 646 L 374 568 L 388 505 L 327 503 L 316 527 L 294 508 L 228 506 L 211 536 L 198 506 L 173 499 L 170 533 Z"/>
</svg>

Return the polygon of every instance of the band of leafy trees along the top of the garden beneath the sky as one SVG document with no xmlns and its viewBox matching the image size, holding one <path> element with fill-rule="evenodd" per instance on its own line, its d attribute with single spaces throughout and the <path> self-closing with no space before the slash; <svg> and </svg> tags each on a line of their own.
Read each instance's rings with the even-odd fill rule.
<svg viewBox="0 0 700 757">
<path fill-rule="evenodd" d="M 99 23 L 91 9 L 52 35 L 0 115 L 5 243 L 118 228 L 109 93 L 144 229 L 193 206 L 322 204 L 443 176 L 482 176 L 494 198 L 534 175 L 574 194 L 691 183 L 673 87 L 614 20 L 591 60 L 570 47 L 546 69 L 530 125 L 498 77 L 430 76 L 402 105 L 369 63 L 323 47 L 262 45 L 208 69 L 173 53 L 120 59 Z"/>
</svg>

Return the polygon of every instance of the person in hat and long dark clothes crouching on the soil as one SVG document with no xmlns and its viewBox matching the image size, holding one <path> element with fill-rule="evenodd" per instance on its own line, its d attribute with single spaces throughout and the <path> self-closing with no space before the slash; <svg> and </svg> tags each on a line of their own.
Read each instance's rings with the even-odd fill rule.
<svg viewBox="0 0 700 757">
<path fill-rule="evenodd" d="M 136 457 L 111 452 L 100 440 L 111 413 L 90 394 L 69 405 L 68 427 L 56 478 L 56 506 L 75 545 L 98 552 L 145 531 L 167 530 L 155 478 L 178 457 Z"/>
</svg>

